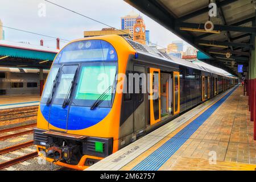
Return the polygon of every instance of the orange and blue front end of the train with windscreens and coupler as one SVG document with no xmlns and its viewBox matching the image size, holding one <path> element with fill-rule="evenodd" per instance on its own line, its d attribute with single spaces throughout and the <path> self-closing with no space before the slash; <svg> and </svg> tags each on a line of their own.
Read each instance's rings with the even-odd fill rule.
<svg viewBox="0 0 256 182">
<path fill-rule="evenodd" d="M 49 162 L 85 169 L 118 150 L 122 94 L 113 90 L 134 54 L 125 39 L 105 36 L 76 40 L 56 55 L 34 131 Z"/>
</svg>

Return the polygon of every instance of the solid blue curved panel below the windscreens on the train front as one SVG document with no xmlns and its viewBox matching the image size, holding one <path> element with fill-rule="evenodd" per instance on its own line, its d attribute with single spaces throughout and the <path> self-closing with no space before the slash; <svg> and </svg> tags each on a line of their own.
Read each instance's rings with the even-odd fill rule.
<svg viewBox="0 0 256 182">
<path fill-rule="evenodd" d="M 40 104 L 40 109 L 44 118 L 51 125 L 64 130 L 82 130 L 102 121 L 109 114 L 111 108 L 99 107 L 90 110 L 90 107 L 71 106 L 70 109 L 69 107 L 63 109 L 61 105 L 49 107 L 46 104 Z"/>
</svg>

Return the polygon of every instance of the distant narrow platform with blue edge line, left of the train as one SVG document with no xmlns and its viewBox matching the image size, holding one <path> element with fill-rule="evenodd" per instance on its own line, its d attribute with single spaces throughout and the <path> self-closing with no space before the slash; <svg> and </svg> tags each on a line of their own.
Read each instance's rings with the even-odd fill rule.
<svg viewBox="0 0 256 182">
<path fill-rule="evenodd" d="M 0 110 L 13 109 L 16 107 L 27 107 L 39 105 L 40 96 L 23 95 L 23 96 L 1 96 Z"/>
</svg>

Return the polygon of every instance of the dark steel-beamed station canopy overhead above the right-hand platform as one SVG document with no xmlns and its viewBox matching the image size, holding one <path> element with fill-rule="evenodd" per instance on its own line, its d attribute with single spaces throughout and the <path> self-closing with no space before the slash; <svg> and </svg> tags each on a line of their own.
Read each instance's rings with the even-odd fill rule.
<svg viewBox="0 0 256 182">
<path fill-rule="evenodd" d="M 238 64 L 249 65 L 254 48 L 255 7 L 251 0 L 125 0 L 168 30 L 199 49 L 200 60 L 235 76 Z M 217 16 L 209 19 L 209 3 Z M 205 31 L 205 23 L 214 24 Z M 254 36 L 253 36 L 254 35 Z M 253 39 L 251 39 L 253 37 Z M 230 56 L 226 56 L 230 53 Z"/>
</svg>

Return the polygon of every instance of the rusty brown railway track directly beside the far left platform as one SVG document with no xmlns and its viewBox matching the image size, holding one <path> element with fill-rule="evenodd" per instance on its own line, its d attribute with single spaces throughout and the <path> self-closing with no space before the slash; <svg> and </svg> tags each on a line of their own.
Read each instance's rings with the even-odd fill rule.
<svg viewBox="0 0 256 182">
<path fill-rule="evenodd" d="M 38 113 L 38 106 L 20 107 L 0 110 L 0 121 L 10 121 L 20 118 L 34 117 Z"/>
</svg>

